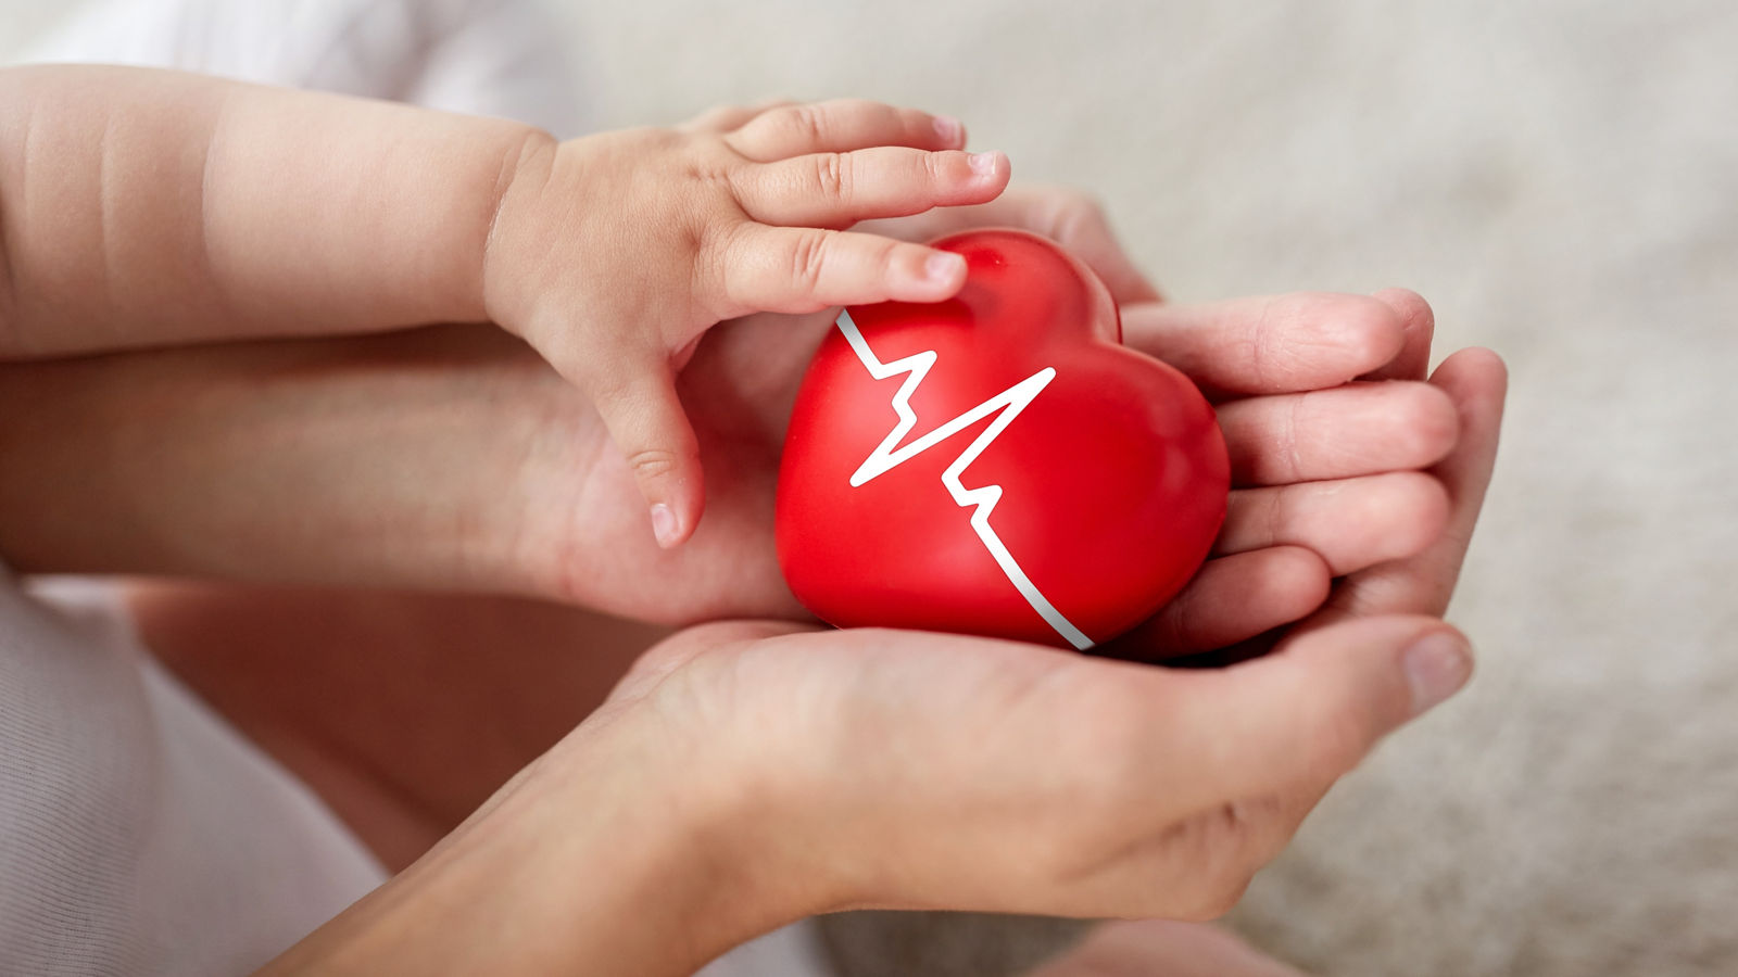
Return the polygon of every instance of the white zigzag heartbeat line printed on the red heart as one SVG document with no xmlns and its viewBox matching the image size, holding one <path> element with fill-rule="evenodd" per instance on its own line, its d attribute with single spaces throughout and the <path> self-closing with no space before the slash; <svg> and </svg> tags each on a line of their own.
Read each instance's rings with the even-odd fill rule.
<svg viewBox="0 0 1738 977">
<path fill-rule="evenodd" d="M 935 365 L 935 351 L 925 349 L 923 353 L 905 356 L 904 360 L 883 363 L 874 351 L 869 349 L 869 342 L 852 320 L 852 313 L 839 311 L 838 327 L 839 332 L 845 334 L 845 341 L 852 344 L 852 351 L 857 353 L 864 369 L 869 370 L 869 376 L 878 381 L 885 381 L 899 374 L 907 374 L 905 382 L 900 384 L 899 393 L 893 395 L 893 414 L 899 415 L 899 424 L 895 424 L 893 431 L 876 447 L 874 452 L 869 454 L 867 459 L 864 459 L 862 466 L 852 473 L 852 488 L 886 475 L 972 424 L 977 424 L 984 417 L 999 412 L 999 415 L 991 421 L 989 428 L 985 428 L 984 433 L 972 442 L 972 447 L 959 452 L 959 457 L 947 466 L 947 471 L 942 473 L 942 485 L 947 487 L 947 494 L 954 497 L 954 502 L 959 508 L 972 506 L 972 528 L 977 532 L 978 539 L 984 541 L 984 549 L 989 549 L 989 555 L 996 558 L 996 565 L 1001 567 L 1001 572 L 1008 575 L 1008 582 L 1012 582 L 1013 588 L 1020 591 L 1020 596 L 1025 598 L 1025 603 L 1032 605 L 1032 610 L 1036 610 L 1045 622 L 1055 628 L 1057 635 L 1067 638 L 1071 645 L 1083 652 L 1090 648 L 1093 645 L 1091 638 L 1083 635 L 1079 628 L 1071 624 L 1069 619 L 1045 598 L 1045 595 L 1038 589 L 1038 584 L 1034 584 L 1032 579 L 1025 575 L 1025 570 L 1020 568 L 1013 553 L 1008 553 L 1008 548 L 1003 546 L 996 530 L 991 528 L 989 515 L 996 509 L 996 502 L 1001 501 L 1001 485 L 966 488 L 959 482 L 959 475 L 970 468 L 973 461 L 977 461 L 977 455 L 984 454 L 984 449 L 994 443 L 1008 424 L 1012 424 L 1013 419 L 1018 417 L 1029 403 L 1032 403 L 1038 393 L 1050 386 L 1050 381 L 1057 377 L 1057 369 L 1045 367 L 1043 370 L 1038 370 L 984 403 L 978 403 L 972 410 L 966 410 L 959 417 L 935 428 L 904 449 L 895 450 L 899 442 L 902 442 L 918 424 L 918 414 L 911 409 L 911 395 L 923 386 L 923 377 L 926 377 L 930 374 L 930 367 Z"/>
</svg>

